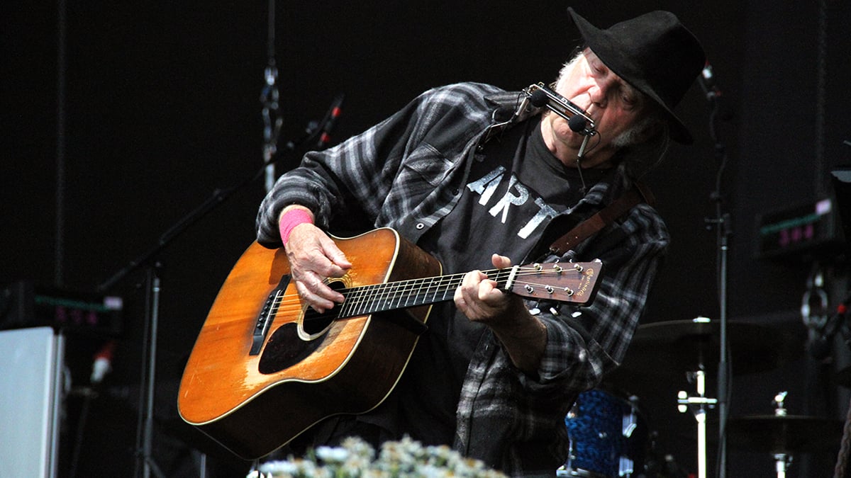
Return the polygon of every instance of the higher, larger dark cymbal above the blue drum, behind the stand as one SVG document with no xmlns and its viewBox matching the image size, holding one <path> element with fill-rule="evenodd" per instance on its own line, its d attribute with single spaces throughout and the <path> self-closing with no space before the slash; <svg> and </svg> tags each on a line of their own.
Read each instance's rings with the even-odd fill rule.
<svg viewBox="0 0 851 478">
<path fill-rule="evenodd" d="M 671 376 L 704 370 L 717 372 L 721 323 L 654 322 L 639 326 L 622 373 Z M 727 323 L 728 352 L 735 374 L 764 372 L 802 353 L 803 339 L 791 330 L 748 322 Z"/>
</svg>

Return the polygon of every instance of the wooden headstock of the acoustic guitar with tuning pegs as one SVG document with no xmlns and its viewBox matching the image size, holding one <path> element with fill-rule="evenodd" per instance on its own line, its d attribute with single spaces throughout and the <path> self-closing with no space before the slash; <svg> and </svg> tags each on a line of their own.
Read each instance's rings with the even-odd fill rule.
<svg viewBox="0 0 851 478">
<path fill-rule="evenodd" d="M 599 259 L 519 265 L 506 287 L 529 299 L 588 304 L 597 292 L 597 278 L 602 271 L 603 262 Z"/>
</svg>

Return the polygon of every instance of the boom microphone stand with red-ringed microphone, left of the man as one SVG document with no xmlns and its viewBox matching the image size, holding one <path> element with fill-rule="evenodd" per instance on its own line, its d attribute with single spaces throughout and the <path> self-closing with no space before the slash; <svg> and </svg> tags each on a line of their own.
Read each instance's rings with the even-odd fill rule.
<svg viewBox="0 0 851 478">
<path fill-rule="evenodd" d="M 163 471 L 157 467 L 152 456 L 154 384 L 157 368 L 157 325 L 159 322 L 159 299 L 162 291 L 161 279 L 158 274 L 162 265 L 157 260 L 157 257 L 164 248 L 173 242 L 177 236 L 180 236 L 181 233 L 186 231 L 189 226 L 195 224 L 198 219 L 203 218 L 213 211 L 214 208 L 218 207 L 222 202 L 225 202 L 233 196 L 234 193 L 241 191 L 244 187 L 259 179 L 267 168 L 280 161 L 285 154 L 294 153 L 297 151 L 298 146 L 306 143 L 308 140 L 314 139 L 320 129 L 321 128 L 318 127 L 317 122 L 311 122 L 305 129 L 305 134 L 300 139 L 288 141 L 283 149 L 283 153 L 270 156 L 268 160 L 263 162 L 262 167 L 259 171 L 257 171 L 257 173 L 247 179 L 244 179 L 243 182 L 235 186 L 231 186 L 224 190 L 216 189 L 213 191 L 213 195 L 205 202 L 193 209 L 190 213 L 187 213 L 175 225 L 166 230 L 165 233 L 160 236 L 157 244 L 153 248 L 142 254 L 139 259 L 130 261 L 130 263 L 123 267 L 123 269 L 118 270 L 113 276 L 105 282 L 102 282 L 100 286 L 97 287 L 98 292 L 106 292 L 111 289 L 111 287 L 114 287 L 118 282 L 122 281 L 125 277 L 129 276 L 131 272 L 134 272 L 141 267 L 147 268 L 145 338 L 142 346 L 142 378 L 140 380 L 140 415 L 136 429 L 135 476 L 138 477 L 141 473 L 144 478 L 149 478 L 152 473 L 156 475 L 157 478 L 165 478 Z"/>
</svg>

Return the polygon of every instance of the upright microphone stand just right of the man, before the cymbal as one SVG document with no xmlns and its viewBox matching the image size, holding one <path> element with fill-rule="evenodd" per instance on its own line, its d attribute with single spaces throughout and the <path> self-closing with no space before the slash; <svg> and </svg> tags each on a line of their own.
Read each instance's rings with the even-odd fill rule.
<svg viewBox="0 0 851 478">
<path fill-rule="evenodd" d="M 711 67 L 707 64 L 700 85 L 706 94 L 706 100 L 710 105 L 709 133 L 715 143 L 715 156 L 718 159 L 718 172 L 716 176 L 715 191 L 711 193 L 711 199 L 715 202 L 716 216 L 714 219 L 705 219 L 710 228 L 716 228 L 717 241 L 717 286 L 718 286 L 718 322 L 719 322 L 719 359 L 718 359 L 718 458 L 717 476 L 725 478 L 727 475 L 727 418 L 729 392 L 729 364 L 728 364 L 728 339 L 727 339 L 727 286 L 728 286 L 728 249 L 729 237 L 732 236 L 732 220 L 730 214 L 723 211 L 723 196 L 721 191 L 722 177 L 727 166 L 727 151 L 717 132 L 717 117 L 719 114 L 718 97 L 721 92 L 714 87 Z"/>
</svg>

